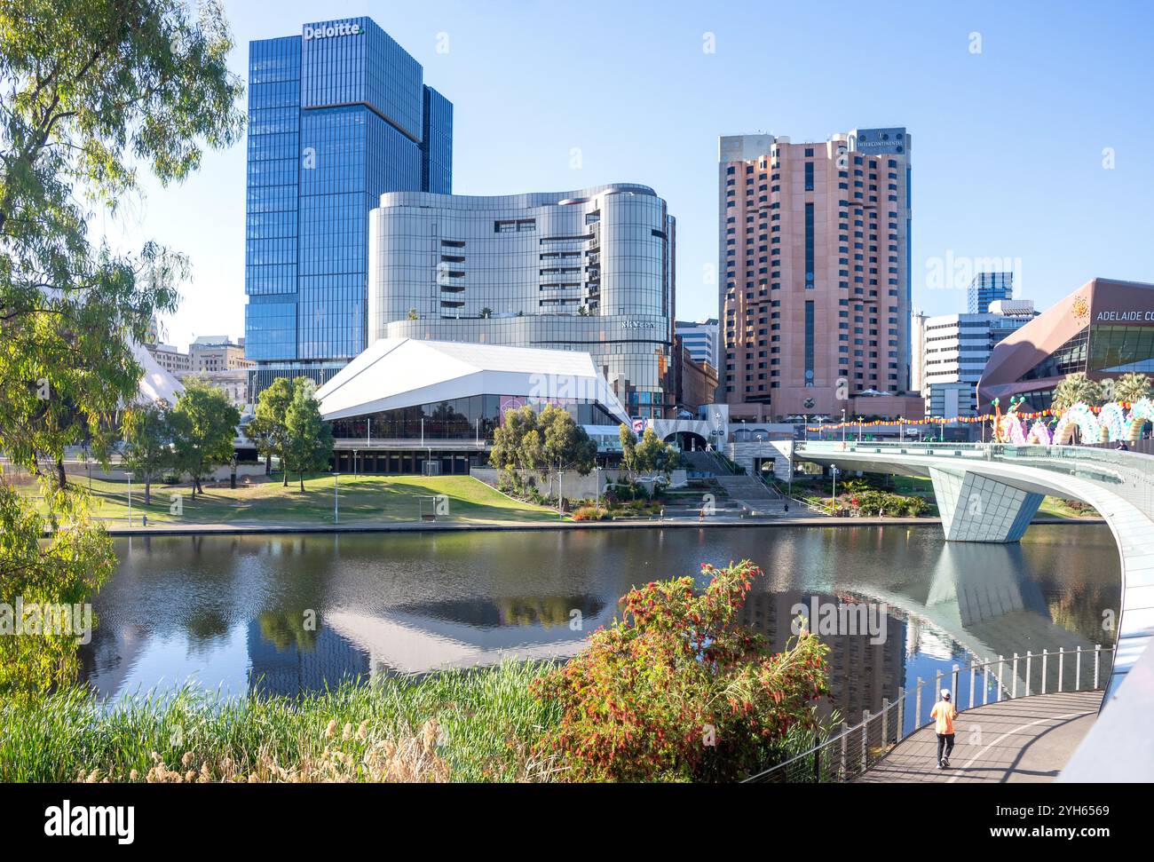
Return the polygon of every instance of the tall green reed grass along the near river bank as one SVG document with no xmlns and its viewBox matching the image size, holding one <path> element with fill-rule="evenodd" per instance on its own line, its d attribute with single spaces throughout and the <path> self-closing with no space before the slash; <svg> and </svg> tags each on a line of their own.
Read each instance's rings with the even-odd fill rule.
<svg viewBox="0 0 1154 862">
<path fill-rule="evenodd" d="M 69 688 L 0 703 L 0 781 L 553 780 L 557 764 L 531 751 L 560 719 L 529 694 L 544 670 L 509 661 L 299 698 Z"/>
</svg>

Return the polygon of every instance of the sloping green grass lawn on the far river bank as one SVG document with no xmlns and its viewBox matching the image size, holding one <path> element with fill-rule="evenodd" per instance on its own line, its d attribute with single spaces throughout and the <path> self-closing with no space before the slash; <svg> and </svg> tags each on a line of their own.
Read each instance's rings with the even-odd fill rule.
<svg viewBox="0 0 1154 862">
<path fill-rule="evenodd" d="M 74 477 L 78 486 L 88 480 Z M 204 494 L 193 500 L 189 486 L 153 485 L 152 501 L 144 505 L 144 489 L 133 482 L 133 523 L 148 514 L 149 524 L 331 524 L 334 479 L 330 474 L 307 477 L 305 490 L 293 479 L 282 487 L 280 477 L 250 478 L 237 489 L 228 482 L 207 484 Z M 22 485 L 29 493 L 35 486 Z M 171 511 L 174 494 L 181 496 L 180 514 Z M 488 485 L 467 475 L 344 475 L 339 479 L 340 523 L 420 520 L 433 510 L 433 496 L 449 497 L 448 516 L 437 520 L 457 523 L 556 520 L 554 509 L 522 503 L 497 493 Z M 92 480 L 95 516 L 126 524 L 128 514 L 127 482 Z M 112 525 L 112 524 L 110 524 Z"/>
</svg>

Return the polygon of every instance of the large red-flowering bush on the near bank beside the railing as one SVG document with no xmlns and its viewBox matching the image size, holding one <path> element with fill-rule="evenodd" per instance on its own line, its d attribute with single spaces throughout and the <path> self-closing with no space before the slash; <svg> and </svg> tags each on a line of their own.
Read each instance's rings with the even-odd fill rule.
<svg viewBox="0 0 1154 862">
<path fill-rule="evenodd" d="M 802 632 L 771 653 L 736 623 L 760 570 L 749 561 L 654 582 L 622 600 L 567 665 L 533 682 L 562 718 L 538 742 L 578 781 L 739 779 L 780 755 L 790 730 L 818 729 L 827 695 L 824 646 Z"/>
</svg>

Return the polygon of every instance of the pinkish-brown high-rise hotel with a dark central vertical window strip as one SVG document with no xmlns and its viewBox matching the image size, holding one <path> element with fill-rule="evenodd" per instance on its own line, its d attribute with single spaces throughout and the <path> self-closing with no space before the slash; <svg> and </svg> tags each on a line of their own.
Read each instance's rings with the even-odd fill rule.
<svg viewBox="0 0 1154 862">
<path fill-rule="evenodd" d="M 719 400 L 904 412 L 884 396 L 909 388 L 909 145 L 904 128 L 721 138 Z"/>
</svg>

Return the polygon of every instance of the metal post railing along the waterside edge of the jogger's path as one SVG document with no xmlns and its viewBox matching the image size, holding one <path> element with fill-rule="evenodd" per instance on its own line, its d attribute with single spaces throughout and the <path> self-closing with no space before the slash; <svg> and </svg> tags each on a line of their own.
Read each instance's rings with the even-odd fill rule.
<svg viewBox="0 0 1154 862">
<path fill-rule="evenodd" d="M 1057 652 L 1042 650 L 1040 653 L 1027 650 L 1025 654 L 1013 653 L 1010 658 L 998 655 L 996 659 L 972 661 L 965 668 L 954 665 L 949 674 L 937 672 L 928 698 L 922 697 L 922 689 L 929 681 L 917 677 L 912 690 L 899 687 L 896 699 L 882 698 L 878 712 L 863 710 L 860 722 L 853 726 L 841 722 L 841 729 L 837 734 L 751 775 L 745 782 L 849 781 L 869 771 L 894 745 L 930 722 L 929 710 L 937 700 L 944 680 L 950 681 L 949 688 L 958 711 L 965 712 L 975 706 L 1032 695 L 1100 691 L 1109 679 L 1110 672 L 1106 666 L 1112 666 L 1114 655 L 1114 646 L 1102 647 L 1097 644 L 1093 650 L 1081 646 L 1074 650 L 1059 647 Z M 962 691 L 961 682 L 967 673 L 969 683 L 967 690 Z M 926 704 L 922 703 L 923 699 Z M 907 710 L 911 706 L 913 720 L 908 722 L 912 727 L 907 730 Z M 926 721 L 922 720 L 923 714 Z"/>
</svg>

